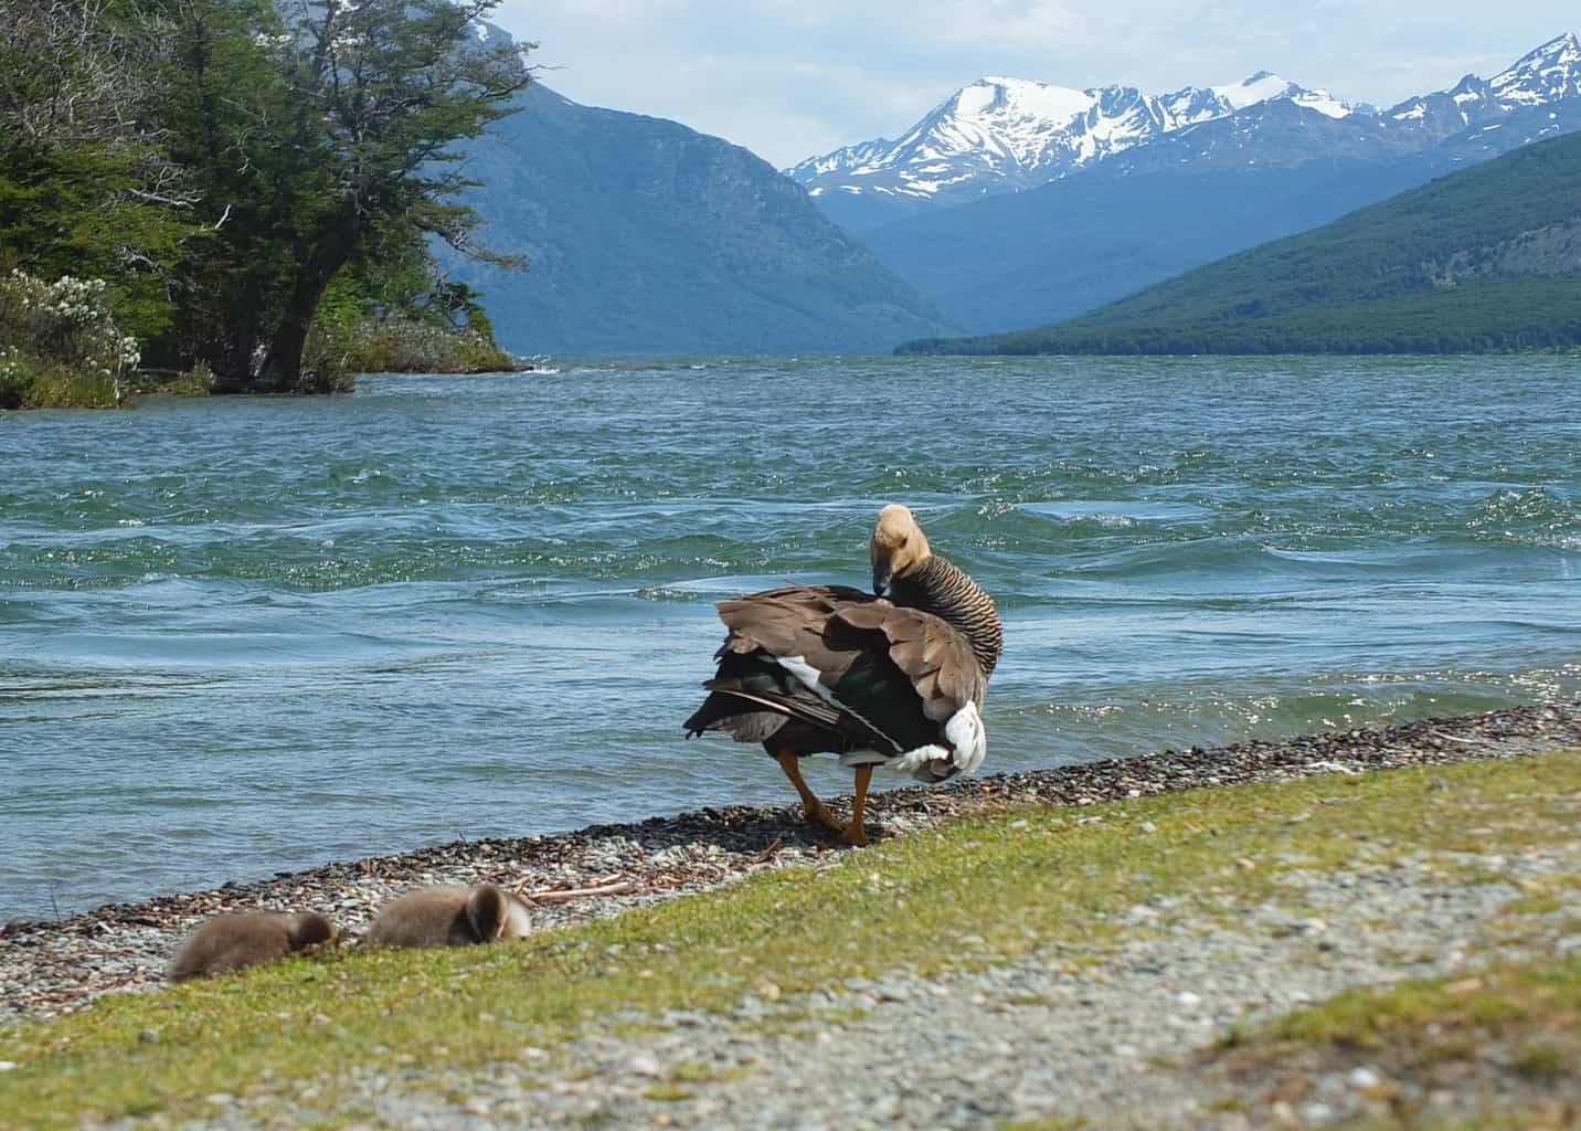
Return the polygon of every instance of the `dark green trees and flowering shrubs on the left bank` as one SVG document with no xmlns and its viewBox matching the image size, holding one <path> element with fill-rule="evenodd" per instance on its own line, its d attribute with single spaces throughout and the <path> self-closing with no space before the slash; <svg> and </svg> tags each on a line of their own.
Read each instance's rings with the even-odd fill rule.
<svg viewBox="0 0 1581 1131">
<path fill-rule="evenodd" d="M 508 362 L 430 255 L 490 255 L 452 146 L 528 82 L 493 3 L 0 5 L 0 407 Z"/>
</svg>

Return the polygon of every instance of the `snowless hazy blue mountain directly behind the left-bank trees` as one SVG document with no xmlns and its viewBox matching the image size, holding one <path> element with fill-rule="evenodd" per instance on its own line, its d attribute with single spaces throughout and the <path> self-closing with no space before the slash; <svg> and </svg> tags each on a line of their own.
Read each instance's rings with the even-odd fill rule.
<svg viewBox="0 0 1581 1131">
<path fill-rule="evenodd" d="M 501 345 L 538 353 L 868 353 L 950 323 L 767 161 L 534 84 L 466 160 L 482 242 L 447 256 Z"/>
</svg>

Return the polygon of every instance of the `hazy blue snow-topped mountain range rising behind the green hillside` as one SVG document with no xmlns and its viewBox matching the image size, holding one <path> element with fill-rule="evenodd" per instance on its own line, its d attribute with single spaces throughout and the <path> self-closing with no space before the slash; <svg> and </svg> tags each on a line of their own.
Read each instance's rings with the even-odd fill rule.
<svg viewBox="0 0 1581 1131">
<path fill-rule="evenodd" d="M 1020 191 L 1006 187 L 998 166 L 983 172 L 983 163 L 964 157 L 907 172 L 909 150 L 898 142 L 852 147 L 847 165 L 857 172 L 840 166 L 838 155 L 797 169 L 809 183 L 821 179 L 814 187 L 825 215 L 857 229 L 945 320 L 993 334 L 1072 318 L 1458 168 L 1581 130 L 1581 44 L 1568 35 L 1494 79 L 1466 76 L 1387 111 L 1314 101 L 1312 92 L 1287 87 L 1195 125 L 1135 131 L 1127 146 L 1094 150 L 1100 158 Z M 1078 125 L 1088 136 L 1094 120 Z M 930 128 L 964 136 L 960 123 Z M 1023 149 L 1036 152 L 1031 142 Z M 949 183 L 963 199 L 960 177 L 977 177 L 982 191 L 944 207 L 933 187 Z M 879 191 L 884 183 L 889 190 Z"/>
</svg>

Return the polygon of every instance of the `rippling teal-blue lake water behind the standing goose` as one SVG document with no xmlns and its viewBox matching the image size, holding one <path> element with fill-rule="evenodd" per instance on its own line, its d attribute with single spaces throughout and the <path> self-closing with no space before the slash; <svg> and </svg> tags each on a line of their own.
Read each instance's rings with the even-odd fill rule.
<svg viewBox="0 0 1581 1131">
<path fill-rule="evenodd" d="M 994 593 L 987 770 L 1581 691 L 1576 359 L 669 359 L 0 414 L 0 919 L 792 799 L 711 601 Z M 817 788 L 849 789 L 832 764 Z"/>
</svg>

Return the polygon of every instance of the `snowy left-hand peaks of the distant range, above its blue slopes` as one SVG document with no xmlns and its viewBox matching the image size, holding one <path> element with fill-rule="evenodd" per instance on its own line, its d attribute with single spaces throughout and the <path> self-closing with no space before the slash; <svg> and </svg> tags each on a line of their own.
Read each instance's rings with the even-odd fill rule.
<svg viewBox="0 0 1581 1131">
<path fill-rule="evenodd" d="M 1175 130 L 1284 98 L 1344 117 L 1355 108 L 1260 71 L 1217 87 L 1148 95 L 985 78 L 957 90 L 900 139 L 879 138 L 802 161 L 787 174 L 828 191 L 960 202 L 1056 180 Z"/>
</svg>

